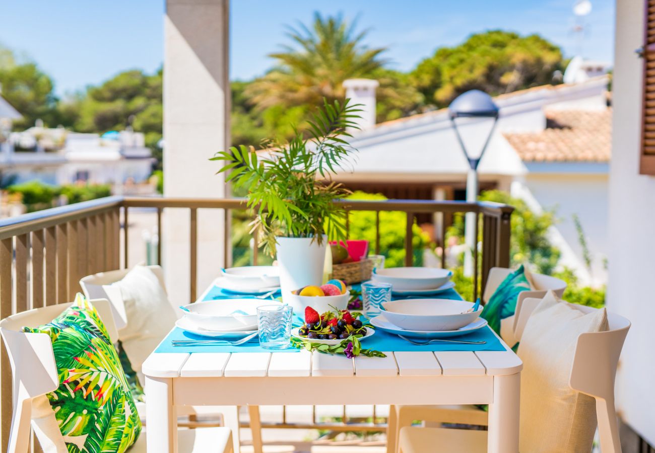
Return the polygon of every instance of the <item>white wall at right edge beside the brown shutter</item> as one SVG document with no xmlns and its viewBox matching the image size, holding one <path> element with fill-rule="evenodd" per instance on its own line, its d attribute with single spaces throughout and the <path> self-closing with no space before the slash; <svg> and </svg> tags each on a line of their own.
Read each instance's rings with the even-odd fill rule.
<svg viewBox="0 0 655 453">
<path fill-rule="evenodd" d="M 618 369 L 620 415 L 655 445 L 655 177 L 639 175 L 643 0 L 616 1 L 608 308 L 632 322 Z"/>
</svg>

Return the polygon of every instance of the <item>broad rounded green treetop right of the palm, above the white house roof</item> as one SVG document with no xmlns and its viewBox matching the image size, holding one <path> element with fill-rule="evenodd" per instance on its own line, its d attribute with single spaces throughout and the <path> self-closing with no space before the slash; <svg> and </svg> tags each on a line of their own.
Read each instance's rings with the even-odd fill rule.
<svg viewBox="0 0 655 453">
<path fill-rule="evenodd" d="M 477 88 L 492 96 L 552 82 L 563 69 L 561 49 L 539 35 L 502 30 L 471 35 L 454 47 L 441 47 L 411 73 L 426 103 L 448 105 Z"/>
</svg>

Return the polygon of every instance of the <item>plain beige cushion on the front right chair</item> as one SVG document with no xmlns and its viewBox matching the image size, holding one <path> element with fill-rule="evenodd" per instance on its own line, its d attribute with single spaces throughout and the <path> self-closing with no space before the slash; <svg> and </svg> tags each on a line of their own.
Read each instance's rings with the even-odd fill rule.
<svg viewBox="0 0 655 453">
<path fill-rule="evenodd" d="M 548 291 L 534 309 L 518 350 L 521 453 L 591 451 L 595 401 L 572 390 L 569 376 L 578 335 L 600 331 L 607 331 L 605 308 L 584 314 Z"/>
</svg>

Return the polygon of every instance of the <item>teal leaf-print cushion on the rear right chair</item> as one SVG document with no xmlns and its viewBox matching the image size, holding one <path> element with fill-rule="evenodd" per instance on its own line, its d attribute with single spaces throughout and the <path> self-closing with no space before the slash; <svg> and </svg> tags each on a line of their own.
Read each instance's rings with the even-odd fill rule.
<svg viewBox="0 0 655 453">
<path fill-rule="evenodd" d="M 500 335 L 500 320 L 514 315 L 519 293 L 530 290 L 531 287 L 525 276 L 525 269 L 521 265 L 498 285 L 496 291 L 485 304 L 480 316 L 487 319 L 489 327 Z"/>
</svg>

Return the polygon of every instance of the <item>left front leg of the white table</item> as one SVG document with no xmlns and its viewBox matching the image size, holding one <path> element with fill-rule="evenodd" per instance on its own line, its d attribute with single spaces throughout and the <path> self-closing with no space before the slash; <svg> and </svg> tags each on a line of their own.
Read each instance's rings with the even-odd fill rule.
<svg viewBox="0 0 655 453">
<path fill-rule="evenodd" d="M 170 378 L 145 376 L 146 445 L 148 453 L 178 453 L 178 415 Z"/>
</svg>

